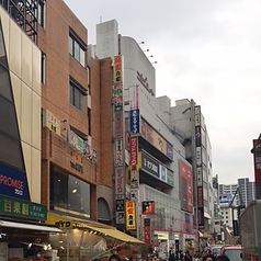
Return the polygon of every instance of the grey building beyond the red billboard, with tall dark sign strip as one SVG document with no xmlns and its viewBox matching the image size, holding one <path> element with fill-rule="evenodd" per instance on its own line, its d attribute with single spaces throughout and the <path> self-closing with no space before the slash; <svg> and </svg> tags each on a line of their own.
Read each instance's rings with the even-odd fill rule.
<svg viewBox="0 0 261 261">
<path fill-rule="evenodd" d="M 166 107 L 166 97 L 159 99 L 162 118 L 184 145 L 185 158 L 193 167 L 195 222 L 203 231 L 213 232 L 217 192 L 213 188 L 212 148 L 201 106 L 184 99 L 177 101 L 175 106 Z"/>
</svg>

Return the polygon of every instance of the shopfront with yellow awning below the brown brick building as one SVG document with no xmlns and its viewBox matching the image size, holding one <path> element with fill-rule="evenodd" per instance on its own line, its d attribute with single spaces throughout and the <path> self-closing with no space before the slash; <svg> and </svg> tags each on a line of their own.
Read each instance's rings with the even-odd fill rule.
<svg viewBox="0 0 261 261">
<path fill-rule="evenodd" d="M 110 256 L 113 249 L 122 257 L 140 254 L 146 245 L 115 227 L 90 219 L 48 213 L 47 224 L 56 225 L 64 232 L 52 235 L 49 242 L 58 250 L 60 261 L 91 260 Z"/>
</svg>

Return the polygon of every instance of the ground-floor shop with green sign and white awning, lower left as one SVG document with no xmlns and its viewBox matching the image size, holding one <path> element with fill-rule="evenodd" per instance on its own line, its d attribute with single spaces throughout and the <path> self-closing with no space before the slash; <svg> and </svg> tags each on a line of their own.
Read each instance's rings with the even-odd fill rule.
<svg viewBox="0 0 261 261">
<path fill-rule="evenodd" d="M 0 195 L 0 261 L 30 260 L 50 249 L 49 237 L 63 232 L 45 225 L 46 206 Z"/>
</svg>

